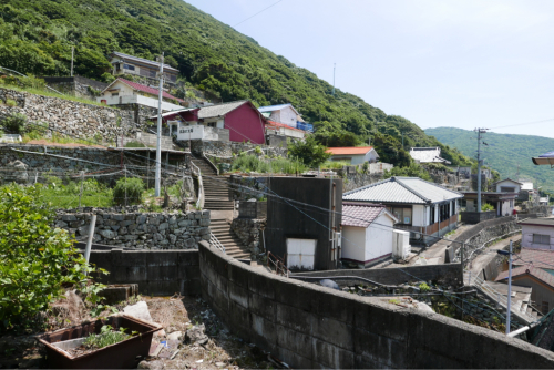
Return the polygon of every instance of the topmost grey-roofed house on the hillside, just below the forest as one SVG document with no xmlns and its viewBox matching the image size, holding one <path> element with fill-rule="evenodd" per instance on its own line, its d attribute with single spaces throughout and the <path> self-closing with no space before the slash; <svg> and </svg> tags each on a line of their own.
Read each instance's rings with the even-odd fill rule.
<svg viewBox="0 0 554 370">
<path fill-rule="evenodd" d="M 120 52 L 110 54 L 113 75 L 132 74 L 141 76 L 148 82 L 157 84 L 157 74 L 160 73 L 160 62 L 133 56 Z M 170 84 L 177 82 L 178 70 L 164 63 L 164 81 Z"/>
</svg>

